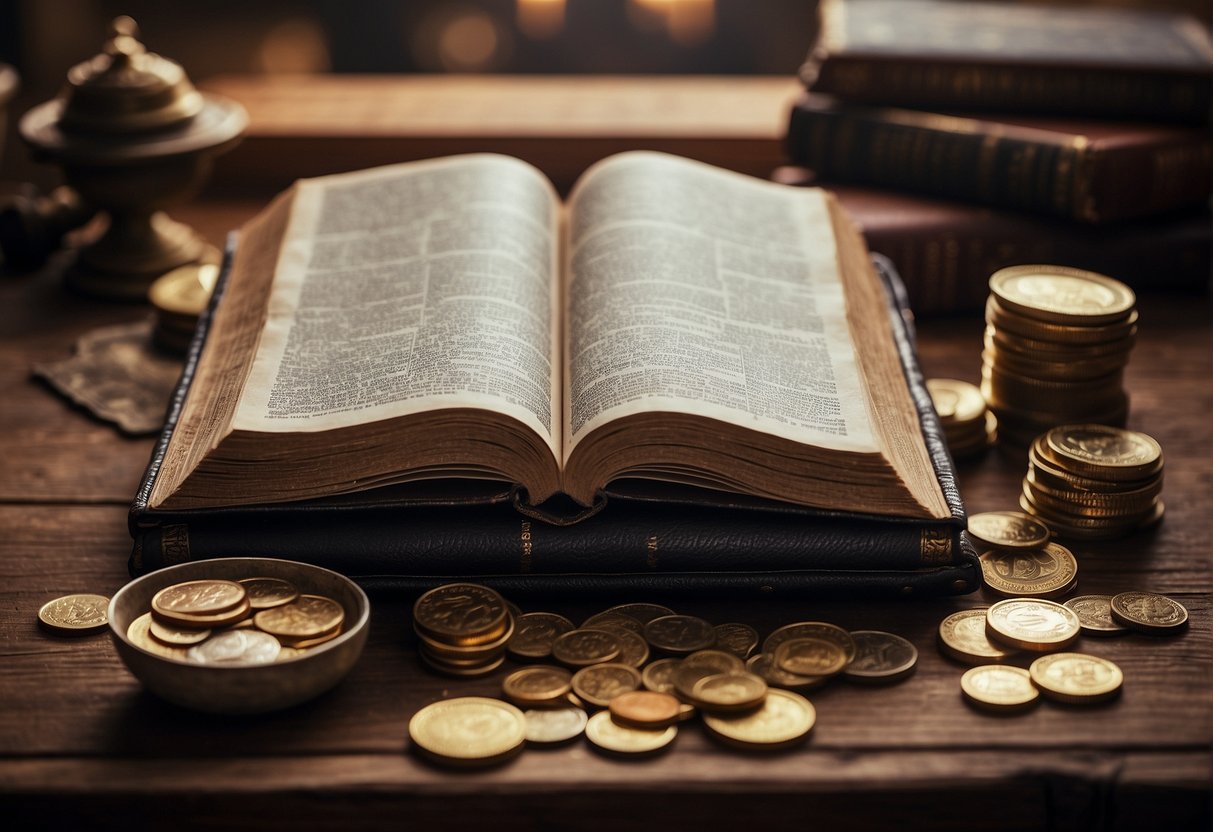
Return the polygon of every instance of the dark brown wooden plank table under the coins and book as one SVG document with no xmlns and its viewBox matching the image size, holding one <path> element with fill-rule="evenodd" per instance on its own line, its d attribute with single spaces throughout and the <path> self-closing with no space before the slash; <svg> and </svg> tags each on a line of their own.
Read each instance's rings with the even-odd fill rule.
<svg viewBox="0 0 1213 832">
<path fill-rule="evenodd" d="M 210 200 L 177 212 L 215 241 L 268 198 Z M 126 580 L 126 506 L 152 446 L 124 439 L 29 376 L 80 334 L 147 314 L 82 300 L 55 269 L 0 283 L 0 817 L 84 828 L 615 830 L 1202 830 L 1209 825 L 1213 367 L 1207 297 L 1140 298 L 1128 388 L 1131 426 L 1167 454 L 1167 515 L 1152 532 L 1075 546 L 1083 593 L 1144 588 L 1191 614 L 1177 638 L 1081 642 L 1117 662 L 1123 695 L 1080 708 L 1042 703 L 992 717 L 961 697 L 963 667 L 935 648 L 939 621 L 980 595 L 905 602 L 678 599 L 682 611 L 747 621 L 765 633 L 818 619 L 900 633 L 919 650 L 909 680 L 837 682 L 811 696 L 802 747 L 742 754 L 688 725 L 643 762 L 583 742 L 526 751 L 480 771 L 410 753 L 414 712 L 446 695 L 494 694 L 505 671 L 452 680 L 422 669 L 410 599 L 375 597 L 371 637 L 335 690 L 284 713 L 218 718 L 143 691 L 108 637 L 55 638 L 46 600 L 109 594 Z M 975 381 L 981 321 L 919 321 L 928 376 Z M 1024 462 L 990 454 L 959 468 L 970 512 L 1013 508 Z M 579 619 L 614 598 L 552 598 Z M 644 600 L 662 600 L 649 598 Z M 8 828 L 13 828 L 8 826 Z"/>
</svg>

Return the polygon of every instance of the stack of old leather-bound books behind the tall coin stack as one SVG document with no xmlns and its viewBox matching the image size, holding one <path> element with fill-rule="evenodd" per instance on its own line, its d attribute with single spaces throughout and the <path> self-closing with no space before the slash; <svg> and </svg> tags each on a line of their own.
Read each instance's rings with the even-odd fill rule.
<svg viewBox="0 0 1213 832">
<path fill-rule="evenodd" d="M 787 148 L 888 255 L 917 312 L 1006 266 L 1205 290 L 1213 44 L 1181 15 L 825 0 Z"/>
</svg>

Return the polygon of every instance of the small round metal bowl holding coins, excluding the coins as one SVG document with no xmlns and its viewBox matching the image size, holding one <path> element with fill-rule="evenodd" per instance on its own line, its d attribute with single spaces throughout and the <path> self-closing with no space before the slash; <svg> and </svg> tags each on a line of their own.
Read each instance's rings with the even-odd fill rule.
<svg viewBox="0 0 1213 832">
<path fill-rule="evenodd" d="M 152 609 L 164 587 L 199 579 L 278 577 L 300 592 L 326 595 L 346 610 L 337 638 L 272 665 L 222 666 L 159 656 L 126 638 L 131 621 Z M 126 667 L 161 699 L 210 713 L 266 713 L 298 705 L 336 685 L 361 655 L 370 629 L 370 602 L 343 575 L 273 558 L 218 558 L 161 569 L 136 579 L 109 602 L 109 633 Z"/>
</svg>

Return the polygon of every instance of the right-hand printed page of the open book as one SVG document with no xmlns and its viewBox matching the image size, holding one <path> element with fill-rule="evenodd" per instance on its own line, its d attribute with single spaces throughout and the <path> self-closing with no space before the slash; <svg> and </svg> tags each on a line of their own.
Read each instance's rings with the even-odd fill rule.
<svg viewBox="0 0 1213 832">
<path fill-rule="evenodd" d="M 569 215 L 565 458 L 651 411 L 878 449 L 821 192 L 630 153 Z"/>
</svg>

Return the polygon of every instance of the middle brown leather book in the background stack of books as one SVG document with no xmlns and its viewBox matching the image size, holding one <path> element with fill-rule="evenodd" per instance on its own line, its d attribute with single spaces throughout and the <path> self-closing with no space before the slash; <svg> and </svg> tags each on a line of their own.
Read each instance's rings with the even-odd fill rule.
<svg viewBox="0 0 1213 832">
<path fill-rule="evenodd" d="M 1146 217 L 1209 198 L 1202 127 L 1030 116 L 966 118 L 805 95 L 787 152 L 853 182 L 1088 223 Z"/>
</svg>

